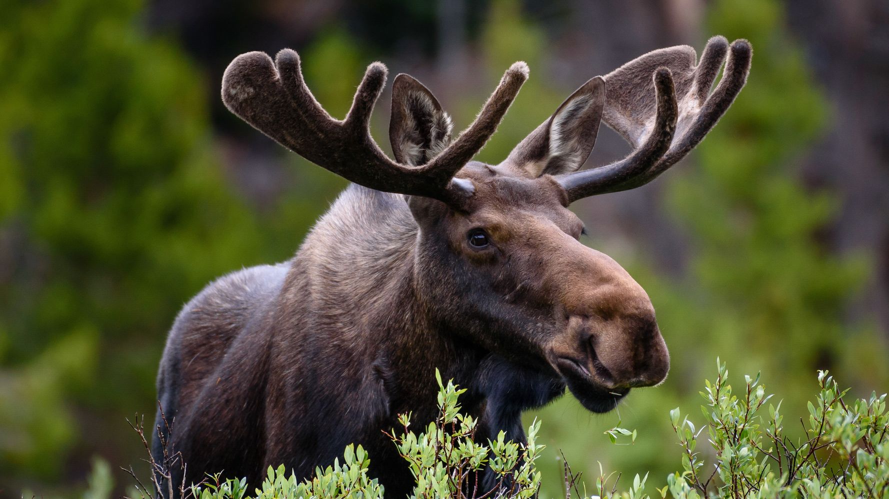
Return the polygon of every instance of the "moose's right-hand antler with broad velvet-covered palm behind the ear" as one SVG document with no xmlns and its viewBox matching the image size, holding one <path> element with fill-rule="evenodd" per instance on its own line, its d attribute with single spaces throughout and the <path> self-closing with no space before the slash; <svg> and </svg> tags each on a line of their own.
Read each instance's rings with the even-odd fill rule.
<svg viewBox="0 0 889 499">
<path fill-rule="evenodd" d="M 723 78 L 710 93 L 726 52 Z M 635 150 L 619 162 L 555 176 L 569 201 L 645 185 L 685 157 L 738 96 L 750 58 L 747 40 L 730 46 L 714 36 L 697 66 L 694 49 L 680 45 L 649 52 L 606 75 L 603 119 Z"/>
</svg>

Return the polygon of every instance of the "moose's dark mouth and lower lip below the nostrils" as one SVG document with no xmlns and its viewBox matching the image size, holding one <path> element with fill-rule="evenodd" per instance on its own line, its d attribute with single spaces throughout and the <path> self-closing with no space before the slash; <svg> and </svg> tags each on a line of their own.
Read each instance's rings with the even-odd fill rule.
<svg viewBox="0 0 889 499">
<path fill-rule="evenodd" d="M 611 373 L 592 354 L 592 366 L 595 376 L 589 372 L 589 368 L 583 362 L 572 357 L 560 356 L 555 364 L 559 375 L 568 384 L 574 398 L 581 402 L 587 410 L 595 413 L 605 413 L 616 408 L 618 403 L 627 396 L 629 388 L 606 388 L 603 381 L 611 379 Z"/>
</svg>

